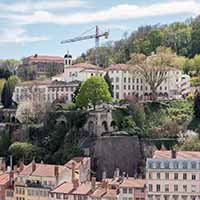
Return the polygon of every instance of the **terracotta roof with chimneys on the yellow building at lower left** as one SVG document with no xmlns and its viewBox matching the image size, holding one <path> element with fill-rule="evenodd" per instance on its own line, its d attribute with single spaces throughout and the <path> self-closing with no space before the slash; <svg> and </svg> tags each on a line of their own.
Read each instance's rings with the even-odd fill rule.
<svg viewBox="0 0 200 200">
<path fill-rule="evenodd" d="M 20 175 L 55 177 L 55 166 L 58 166 L 59 173 L 66 169 L 66 167 L 62 165 L 36 164 L 36 170 L 32 172 L 32 163 L 30 163 L 24 167 Z"/>
</svg>

